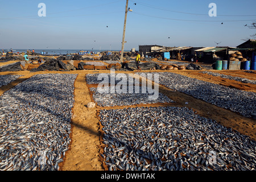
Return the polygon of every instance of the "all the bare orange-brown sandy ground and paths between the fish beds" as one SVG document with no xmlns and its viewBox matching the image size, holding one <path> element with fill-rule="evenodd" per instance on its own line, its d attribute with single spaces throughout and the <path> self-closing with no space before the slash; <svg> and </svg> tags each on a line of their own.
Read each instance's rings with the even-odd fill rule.
<svg viewBox="0 0 256 182">
<path fill-rule="evenodd" d="M 226 75 L 240 76 L 256 80 L 256 71 L 254 73 L 246 73 L 244 71 L 216 71 Z M 146 71 L 142 71 L 146 72 Z M 241 90 L 247 90 L 256 92 L 254 84 L 243 84 L 238 81 L 230 81 L 225 78 L 213 77 L 207 74 L 199 73 L 200 71 L 154 71 L 154 72 L 174 72 L 188 77 L 197 78 L 199 80 L 209 81 L 220 85 L 230 86 Z M 175 92 L 174 90 L 166 88 L 166 86 L 159 86 L 159 92 L 166 94 L 175 103 L 171 104 L 148 104 L 148 105 L 136 105 L 136 106 L 115 106 L 115 107 L 94 107 L 88 108 L 86 105 L 92 101 L 92 94 L 89 93 L 90 86 L 97 85 L 86 85 L 85 76 L 88 73 L 109 73 L 109 71 L 94 71 L 94 70 L 83 70 L 83 71 L 42 71 L 42 72 L 30 72 L 30 71 L 19 71 L 19 72 L 0 72 L 0 75 L 24 75 L 18 80 L 11 82 L 9 85 L 2 86 L 0 88 L 0 95 L 6 90 L 13 88 L 20 82 L 30 78 L 36 74 L 45 73 L 77 73 L 78 76 L 75 81 L 75 105 L 73 107 L 72 117 L 72 133 L 71 133 L 71 144 L 69 150 L 66 152 L 64 162 L 60 164 L 62 171 L 102 171 L 105 170 L 105 166 L 102 165 L 100 152 L 102 151 L 101 146 L 101 125 L 97 118 L 97 111 L 100 109 L 121 109 L 125 107 L 137 107 L 137 106 L 185 106 L 197 112 L 206 118 L 212 118 L 221 125 L 231 127 L 234 130 L 239 131 L 242 134 L 248 135 L 251 139 L 256 140 L 256 121 L 252 118 L 242 117 L 240 114 L 232 111 L 222 109 L 207 102 L 193 98 L 184 93 Z M 119 72 L 115 73 L 135 73 L 135 72 Z M 145 81 L 142 79 L 142 81 Z M 185 102 L 188 102 L 186 105 Z"/>
</svg>

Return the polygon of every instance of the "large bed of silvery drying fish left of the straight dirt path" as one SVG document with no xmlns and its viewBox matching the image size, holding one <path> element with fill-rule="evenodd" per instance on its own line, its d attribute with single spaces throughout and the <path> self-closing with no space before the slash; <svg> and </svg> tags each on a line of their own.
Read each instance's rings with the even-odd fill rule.
<svg viewBox="0 0 256 182">
<path fill-rule="evenodd" d="M 77 75 L 35 75 L 0 96 L 0 170 L 58 170 L 71 138 Z"/>
</svg>

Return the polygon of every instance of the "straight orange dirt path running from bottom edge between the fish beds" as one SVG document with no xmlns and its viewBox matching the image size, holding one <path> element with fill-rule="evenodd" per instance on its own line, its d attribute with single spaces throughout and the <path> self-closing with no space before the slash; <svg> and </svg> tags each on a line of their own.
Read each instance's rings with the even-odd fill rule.
<svg viewBox="0 0 256 182">
<path fill-rule="evenodd" d="M 100 133 L 96 108 L 88 108 L 91 102 L 89 90 L 85 84 L 85 73 L 77 76 L 75 81 L 75 105 L 72 117 L 72 136 L 70 149 L 65 156 L 63 171 L 100 171 L 98 161 Z"/>
</svg>

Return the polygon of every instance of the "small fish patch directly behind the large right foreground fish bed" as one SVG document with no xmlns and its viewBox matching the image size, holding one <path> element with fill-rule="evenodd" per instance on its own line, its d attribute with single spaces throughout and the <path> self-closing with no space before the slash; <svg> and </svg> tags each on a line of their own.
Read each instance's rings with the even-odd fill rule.
<svg viewBox="0 0 256 182">
<path fill-rule="evenodd" d="M 133 86 L 133 85 L 132 85 Z M 101 88 L 103 89 L 103 88 Z M 154 94 L 148 92 L 146 88 L 145 92 L 142 92 L 142 87 L 138 87 L 138 93 L 135 92 L 135 86 L 131 89 L 132 92 L 129 93 L 129 86 L 127 86 L 126 93 L 117 93 L 117 90 L 114 90 L 114 93 L 110 93 L 110 89 L 116 89 L 115 86 L 106 88 L 108 93 L 102 93 L 98 91 L 98 88 L 90 88 L 93 91 L 93 100 L 97 103 L 98 106 L 108 107 L 108 106 L 130 106 L 137 104 L 155 104 L 155 103 L 171 103 L 174 102 L 170 100 L 167 96 L 162 93 L 157 94 L 155 99 L 152 99 L 149 96 Z"/>
</svg>

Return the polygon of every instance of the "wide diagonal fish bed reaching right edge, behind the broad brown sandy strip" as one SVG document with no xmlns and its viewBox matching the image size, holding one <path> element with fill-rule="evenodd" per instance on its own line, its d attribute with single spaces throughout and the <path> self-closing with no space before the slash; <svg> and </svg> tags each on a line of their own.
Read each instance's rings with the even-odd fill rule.
<svg viewBox="0 0 256 182">
<path fill-rule="evenodd" d="M 159 84 L 170 89 L 240 113 L 244 117 L 256 118 L 256 93 L 254 92 L 229 88 L 171 72 L 156 74 L 159 74 Z"/>
</svg>

